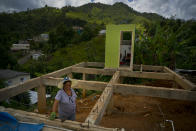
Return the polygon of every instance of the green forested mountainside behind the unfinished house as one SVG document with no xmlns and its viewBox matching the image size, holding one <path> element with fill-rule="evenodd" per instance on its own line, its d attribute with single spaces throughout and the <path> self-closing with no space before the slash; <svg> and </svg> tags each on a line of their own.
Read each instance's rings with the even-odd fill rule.
<svg viewBox="0 0 196 131">
<path fill-rule="evenodd" d="M 0 68 L 29 72 L 36 77 L 81 61 L 104 62 L 105 35 L 99 36 L 98 31 L 107 24 L 136 24 L 135 64 L 196 69 L 195 20 L 139 13 L 123 3 L 91 3 L 62 9 L 45 6 L 0 13 Z M 83 30 L 73 30 L 73 26 Z M 31 49 L 42 50 L 44 57 L 18 65 L 16 53 L 10 51 L 11 44 L 41 33 L 48 33 L 49 41 L 31 42 Z"/>
</svg>

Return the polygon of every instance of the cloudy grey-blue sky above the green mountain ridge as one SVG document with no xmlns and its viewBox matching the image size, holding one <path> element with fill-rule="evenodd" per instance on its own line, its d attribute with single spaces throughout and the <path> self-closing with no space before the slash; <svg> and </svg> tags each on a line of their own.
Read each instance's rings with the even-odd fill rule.
<svg viewBox="0 0 196 131">
<path fill-rule="evenodd" d="M 166 18 L 196 19 L 196 0 L 0 0 L 0 12 L 24 11 L 46 4 L 57 8 L 65 5 L 77 7 L 92 2 L 109 5 L 123 2 L 139 12 L 157 13 Z"/>
</svg>

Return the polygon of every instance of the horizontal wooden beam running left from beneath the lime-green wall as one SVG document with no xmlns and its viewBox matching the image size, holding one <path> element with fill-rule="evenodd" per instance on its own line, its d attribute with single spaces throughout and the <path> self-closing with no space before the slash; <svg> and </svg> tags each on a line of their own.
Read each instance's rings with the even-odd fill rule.
<svg viewBox="0 0 196 131">
<path fill-rule="evenodd" d="M 73 67 L 72 72 L 74 72 L 74 73 L 85 73 L 85 74 L 113 75 L 115 73 L 115 70 Z"/>
</svg>

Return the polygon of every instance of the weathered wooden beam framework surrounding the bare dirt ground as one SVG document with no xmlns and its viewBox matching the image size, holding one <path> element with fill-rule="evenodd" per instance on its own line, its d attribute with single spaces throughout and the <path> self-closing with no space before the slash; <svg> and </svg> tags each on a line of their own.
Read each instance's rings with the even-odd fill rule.
<svg viewBox="0 0 196 131">
<path fill-rule="evenodd" d="M 84 123 L 68 121 L 69 123 L 68 125 L 70 126 L 67 126 L 67 128 L 73 129 L 72 127 L 76 126 L 77 128 L 74 128 L 74 130 L 119 130 L 114 128 L 104 128 L 100 126 L 95 126 L 95 125 L 99 125 L 106 109 L 107 108 L 109 109 L 110 106 L 108 105 L 112 105 L 111 99 L 113 93 L 120 93 L 123 95 L 132 94 L 132 95 L 160 97 L 160 98 L 176 99 L 176 100 L 196 101 L 196 91 L 195 91 L 196 85 L 186 80 L 184 77 L 176 74 L 175 72 L 173 72 L 172 70 L 170 70 L 165 66 L 134 65 L 133 71 L 131 71 L 130 68 L 104 69 L 104 63 L 98 63 L 98 62 L 82 62 L 43 75 L 41 77 L 31 79 L 22 84 L 1 89 L 0 101 L 6 100 L 9 97 L 18 95 L 32 88 L 38 88 L 38 110 L 40 113 L 44 113 L 46 111 L 45 87 L 57 86 L 58 83 L 63 79 L 61 78 L 61 76 L 68 75 L 69 77 L 72 77 L 72 73 L 83 74 L 83 78 L 82 78 L 83 80 L 77 80 L 77 85 L 72 87 L 72 88 L 83 89 L 84 90 L 83 96 L 85 96 L 85 90 L 103 91 L 100 98 L 97 100 L 96 104 L 92 108 L 91 112 L 89 113 Z M 88 74 L 110 75 L 112 76 L 112 78 L 109 82 L 86 81 L 86 75 Z M 176 85 L 179 85 L 182 89 L 153 87 L 153 86 L 145 86 L 145 85 L 120 84 L 118 83 L 120 77 L 170 80 L 176 83 Z M 9 112 L 11 109 L 8 110 L 3 108 L 3 110 Z M 23 112 L 18 111 L 18 112 L 19 114 L 27 113 L 24 111 Z M 27 116 L 28 115 L 24 117 Z M 32 116 L 32 118 L 34 117 Z M 18 117 L 18 119 L 20 119 L 20 117 Z M 41 115 L 40 115 L 40 119 L 41 119 Z M 43 118 L 43 121 L 41 122 L 45 122 L 49 125 L 54 124 L 52 121 L 46 118 Z M 59 123 L 57 125 L 59 127 L 65 127 L 65 125 L 67 125 L 66 123 L 67 121 L 65 123 L 61 123 L 61 124 Z"/>
</svg>

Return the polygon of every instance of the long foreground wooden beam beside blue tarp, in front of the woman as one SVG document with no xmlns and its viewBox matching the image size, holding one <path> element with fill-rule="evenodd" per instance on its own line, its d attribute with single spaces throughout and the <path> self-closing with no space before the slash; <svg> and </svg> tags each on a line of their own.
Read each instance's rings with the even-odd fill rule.
<svg viewBox="0 0 196 131">
<path fill-rule="evenodd" d="M 105 128 L 97 125 L 92 125 L 88 123 L 81 123 L 76 121 L 66 120 L 61 122 L 59 119 L 55 119 L 53 121 L 49 120 L 49 118 L 45 115 L 11 109 L 4 108 L 0 106 L 1 112 L 8 112 L 12 116 L 14 116 L 18 121 L 30 122 L 30 123 L 44 123 L 46 125 L 71 129 L 74 131 L 120 131 L 117 128 Z"/>
</svg>

